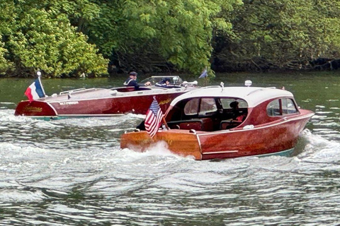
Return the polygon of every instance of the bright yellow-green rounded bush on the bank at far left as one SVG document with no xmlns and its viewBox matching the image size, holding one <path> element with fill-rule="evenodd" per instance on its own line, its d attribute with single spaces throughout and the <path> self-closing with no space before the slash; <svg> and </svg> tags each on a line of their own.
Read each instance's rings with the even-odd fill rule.
<svg viewBox="0 0 340 226">
<path fill-rule="evenodd" d="M 15 65 L 13 73 L 34 75 L 40 69 L 52 77 L 107 74 L 108 61 L 97 54 L 94 44 L 86 42 L 85 35 L 76 32 L 66 14 L 30 7 L 34 3 L 12 7 L 14 20 L 1 29 L 8 60 Z"/>
</svg>

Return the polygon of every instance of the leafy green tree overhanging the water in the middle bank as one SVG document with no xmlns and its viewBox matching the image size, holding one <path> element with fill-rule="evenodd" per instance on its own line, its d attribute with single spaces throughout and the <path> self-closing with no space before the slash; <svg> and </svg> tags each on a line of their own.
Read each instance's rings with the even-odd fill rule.
<svg viewBox="0 0 340 226">
<path fill-rule="evenodd" d="M 214 30 L 231 32 L 221 19 L 239 0 L 121 0 L 96 1 L 101 16 L 88 28 L 91 42 L 125 69 L 152 70 L 169 62 L 178 69 L 200 73 L 210 66 Z M 169 64 L 167 64 L 169 65 Z M 150 67 L 149 67 L 150 66 Z"/>
</svg>

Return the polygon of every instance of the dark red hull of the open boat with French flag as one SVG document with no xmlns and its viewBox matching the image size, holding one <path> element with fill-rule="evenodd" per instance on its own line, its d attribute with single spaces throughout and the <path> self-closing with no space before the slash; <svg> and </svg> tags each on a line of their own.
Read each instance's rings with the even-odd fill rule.
<svg viewBox="0 0 340 226">
<path fill-rule="evenodd" d="M 96 117 L 111 114 L 146 114 L 147 109 L 156 97 L 162 111 L 165 112 L 171 100 L 183 92 L 158 93 L 152 95 L 130 95 L 122 97 L 104 97 L 84 99 L 65 97 L 60 100 L 28 100 L 18 103 L 15 115 L 28 117 Z"/>
</svg>

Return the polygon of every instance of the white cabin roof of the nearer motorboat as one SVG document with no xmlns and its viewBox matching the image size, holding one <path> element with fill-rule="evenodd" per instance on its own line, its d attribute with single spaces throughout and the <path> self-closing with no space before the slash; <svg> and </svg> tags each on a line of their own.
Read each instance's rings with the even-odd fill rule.
<svg viewBox="0 0 340 226">
<path fill-rule="evenodd" d="M 171 106 L 177 102 L 193 97 L 229 97 L 234 99 L 243 99 L 248 103 L 248 107 L 255 107 L 261 102 L 276 97 L 293 97 L 293 94 L 287 90 L 276 88 L 261 88 L 261 87 L 206 87 L 192 90 L 176 97 Z"/>
</svg>

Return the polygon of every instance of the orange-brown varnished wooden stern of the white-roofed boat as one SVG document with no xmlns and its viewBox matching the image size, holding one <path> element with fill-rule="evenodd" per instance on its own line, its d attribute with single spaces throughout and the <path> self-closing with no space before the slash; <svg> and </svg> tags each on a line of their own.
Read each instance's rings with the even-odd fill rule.
<svg viewBox="0 0 340 226">
<path fill-rule="evenodd" d="M 144 152 L 160 141 L 166 142 L 171 153 L 183 157 L 193 156 L 195 160 L 202 160 L 200 143 L 196 133 L 176 129 L 159 131 L 154 138 L 151 138 L 147 131 L 124 133 L 120 138 L 120 148 Z"/>
</svg>

